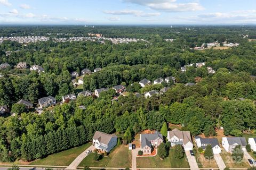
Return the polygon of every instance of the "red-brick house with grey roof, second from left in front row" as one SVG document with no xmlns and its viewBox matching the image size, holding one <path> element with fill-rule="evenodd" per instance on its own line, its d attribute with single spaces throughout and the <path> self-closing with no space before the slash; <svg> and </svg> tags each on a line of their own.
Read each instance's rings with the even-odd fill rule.
<svg viewBox="0 0 256 170">
<path fill-rule="evenodd" d="M 159 132 L 154 134 L 140 134 L 140 146 L 143 155 L 151 154 L 153 147 L 157 148 L 163 142 L 163 135 Z"/>
</svg>

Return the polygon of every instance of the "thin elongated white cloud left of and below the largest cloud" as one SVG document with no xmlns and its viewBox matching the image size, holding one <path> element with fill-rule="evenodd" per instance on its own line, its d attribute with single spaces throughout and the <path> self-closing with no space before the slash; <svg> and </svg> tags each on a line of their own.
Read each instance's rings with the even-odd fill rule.
<svg viewBox="0 0 256 170">
<path fill-rule="evenodd" d="M 151 17 L 151 16 L 159 16 L 161 13 L 145 13 L 143 11 L 138 10 L 120 10 L 120 11 L 103 11 L 106 14 L 111 15 L 133 15 L 133 16 L 140 16 L 140 17 Z"/>
</svg>

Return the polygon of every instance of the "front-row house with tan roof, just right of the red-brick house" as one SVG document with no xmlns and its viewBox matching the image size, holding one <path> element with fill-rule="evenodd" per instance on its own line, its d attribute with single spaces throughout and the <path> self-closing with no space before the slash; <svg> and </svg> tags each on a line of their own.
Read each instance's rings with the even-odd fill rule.
<svg viewBox="0 0 256 170">
<path fill-rule="evenodd" d="M 180 131 L 173 129 L 167 132 L 167 140 L 171 142 L 171 146 L 182 145 L 184 150 L 192 150 L 193 142 L 189 131 Z"/>
</svg>

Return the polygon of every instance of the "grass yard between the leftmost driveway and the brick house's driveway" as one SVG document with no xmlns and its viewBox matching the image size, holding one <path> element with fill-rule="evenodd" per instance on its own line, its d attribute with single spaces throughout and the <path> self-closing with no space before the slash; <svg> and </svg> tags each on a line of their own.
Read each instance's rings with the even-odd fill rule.
<svg viewBox="0 0 256 170">
<path fill-rule="evenodd" d="M 94 153 L 88 155 L 79 166 L 92 167 L 131 167 L 131 151 L 124 145 L 120 145 L 110 152 L 108 157 L 103 157 L 98 162 L 93 160 Z"/>
</svg>

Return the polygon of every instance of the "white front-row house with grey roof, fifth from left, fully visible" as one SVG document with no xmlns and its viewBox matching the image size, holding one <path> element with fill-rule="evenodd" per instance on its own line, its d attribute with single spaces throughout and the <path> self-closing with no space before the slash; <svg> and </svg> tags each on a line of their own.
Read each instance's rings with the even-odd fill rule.
<svg viewBox="0 0 256 170">
<path fill-rule="evenodd" d="M 227 151 L 227 152 L 232 152 L 233 149 L 240 145 L 243 150 L 245 149 L 245 146 L 247 145 L 247 142 L 244 137 L 223 137 L 221 140 L 222 147 Z"/>
</svg>

